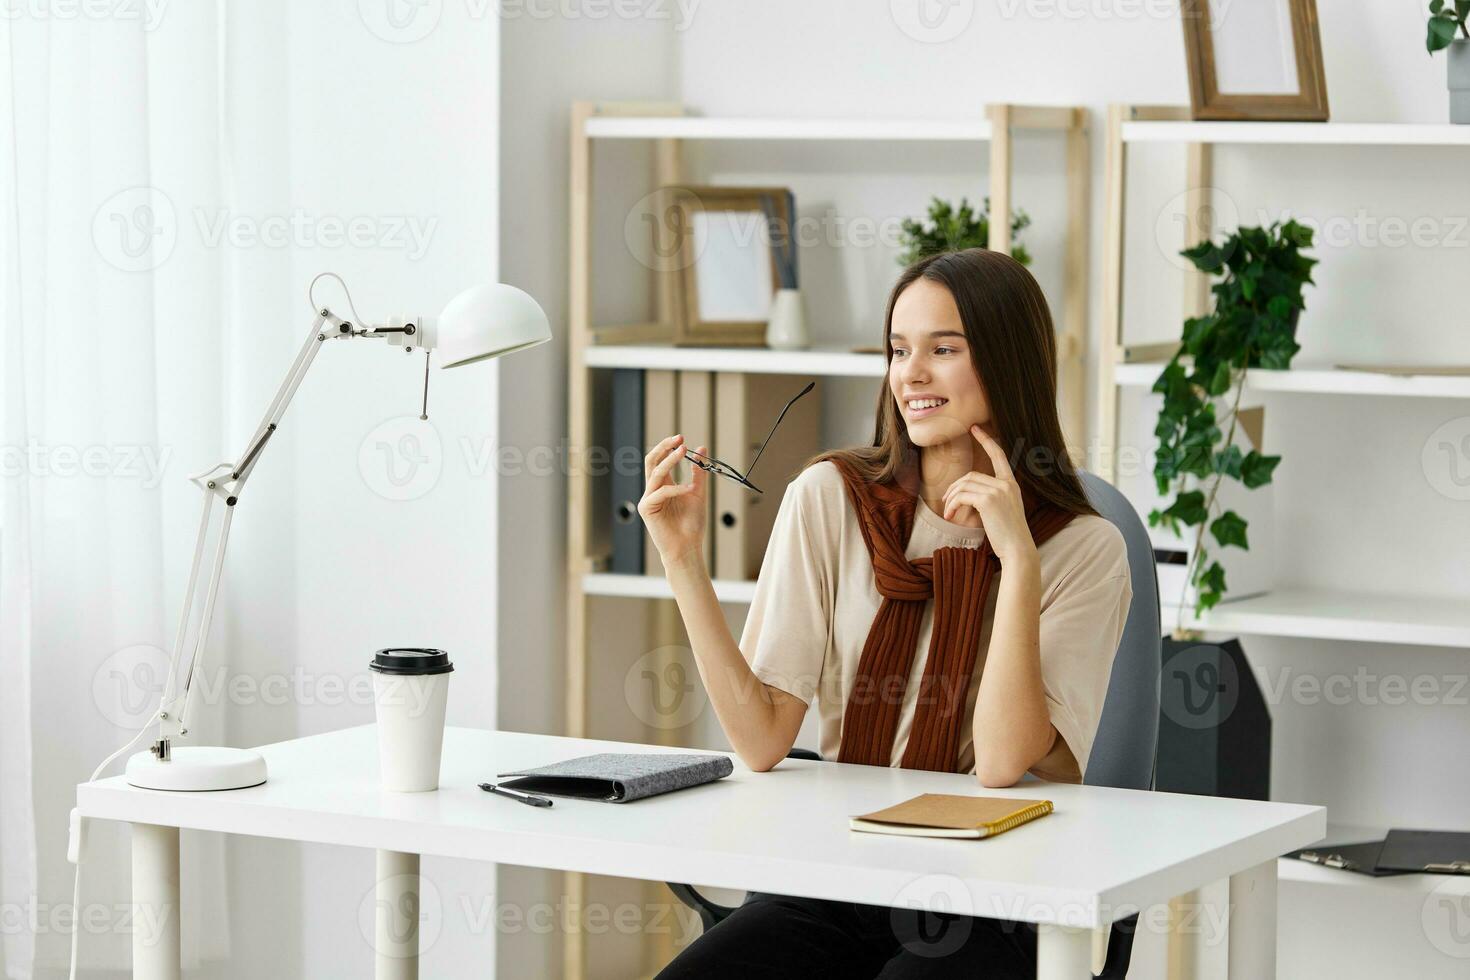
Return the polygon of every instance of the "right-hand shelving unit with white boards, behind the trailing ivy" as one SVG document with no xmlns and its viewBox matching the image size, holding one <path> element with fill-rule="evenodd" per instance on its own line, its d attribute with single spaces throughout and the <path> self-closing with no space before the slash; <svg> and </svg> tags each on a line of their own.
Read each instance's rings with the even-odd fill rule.
<svg viewBox="0 0 1470 980">
<path fill-rule="evenodd" d="M 1399 123 L 1310 123 L 1310 122 L 1194 122 L 1188 107 L 1113 106 L 1108 112 L 1104 231 L 1104 281 L 1101 357 L 1098 359 L 1098 432 L 1104 445 L 1117 445 L 1119 394 L 1123 388 L 1151 388 L 1176 344 L 1123 341 L 1123 242 L 1127 147 L 1133 144 L 1183 145 L 1186 163 L 1186 238 L 1200 241 L 1214 229 L 1201 223 L 1211 187 L 1211 147 L 1233 145 L 1335 145 L 1335 147 L 1470 147 L 1470 126 Z M 1191 273 L 1185 288 L 1182 317 L 1201 314 L 1208 304 L 1208 279 Z M 1351 395 L 1399 398 L 1470 398 L 1470 376 L 1448 373 L 1388 375 L 1332 366 L 1299 366 L 1289 370 L 1252 369 L 1247 388 L 1260 392 L 1301 395 Z M 1113 460 L 1100 466 L 1111 479 Z M 1260 635 L 1323 641 L 1354 641 L 1391 645 L 1420 645 L 1470 649 L 1470 595 L 1401 597 L 1310 588 L 1280 588 L 1270 594 L 1227 599 L 1204 616 L 1183 611 L 1185 626 L 1216 635 Z M 1180 608 L 1166 604 L 1164 629 L 1173 630 Z M 1372 840 L 1382 829 L 1360 833 L 1330 833 L 1329 839 Z M 1344 829 L 1345 830 L 1345 829 Z M 1280 880 L 1291 887 L 1354 889 L 1373 898 L 1402 895 L 1405 907 L 1423 902 L 1452 876 L 1410 874 L 1370 877 L 1324 868 L 1292 858 L 1277 861 Z M 1451 887 L 1464 887 L 1470 882 Z"/>
</svg>

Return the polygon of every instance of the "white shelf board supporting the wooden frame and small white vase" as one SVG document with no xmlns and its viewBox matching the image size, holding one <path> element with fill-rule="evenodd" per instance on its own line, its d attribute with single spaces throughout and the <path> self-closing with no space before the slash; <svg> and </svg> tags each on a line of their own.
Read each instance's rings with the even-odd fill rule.
<svg viewBox="0 0 1470 980">
<path fill-rule="evenodd" d="M 854 354 L 845 347 L 773 351 L 764 347 L 672 347 L 667 344 L 594 344 L 585 350 L 588 367 L 651 370 L 738 370 L 748 375 L 822 375 L 882 378 L 882 354 Z"/>
</svg>

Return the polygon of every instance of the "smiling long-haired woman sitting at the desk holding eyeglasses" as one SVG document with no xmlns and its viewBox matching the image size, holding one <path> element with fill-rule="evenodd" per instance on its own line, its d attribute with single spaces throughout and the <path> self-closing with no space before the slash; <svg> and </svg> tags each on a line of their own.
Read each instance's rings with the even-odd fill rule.
<svg viewBox="0 0 1470 980">
<path fill-rule="evenodd" d="M 1063 447 L 1045 298 L 1008 256 L 947 253 L 898 278 L 883 335 L 873 444 L 786 489 L 739 645 L 701 554 L 704 470 L 673 482 L 678 435 L 644 461 L 638 513 L 720 726 L 766 771 L 816 696 L 828 760 L 1080 782 L 1132 588 Z M 723 976 L 1032 977 L 1035 932 L 753 893 L 660 974 Z"/>
</svg>

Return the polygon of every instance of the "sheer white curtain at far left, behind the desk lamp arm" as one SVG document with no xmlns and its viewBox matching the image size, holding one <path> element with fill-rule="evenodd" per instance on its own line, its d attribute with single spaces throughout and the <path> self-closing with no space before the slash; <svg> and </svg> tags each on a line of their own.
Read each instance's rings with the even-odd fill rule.
<svg viewBox="0 0 1470 980">
<path fill-rule="evenodd" d="M 66 962 L 75 783 L 157 702 L 198 511 L 184 473 L 237 428 L 231 273 L 188 217 L 229 191 L 219 12 L 69 9 L 0 19 L 0 899 L 29 920 L 6 923 L 9 977 Z M 219 736 L 200 720 L 201 741 Z M 185 851 L 198 962 L 228 948 L 223 851 Z M 128 965 L 126 864 L 126 829 L 94 824 L 84 967 Z"/>
</svg>

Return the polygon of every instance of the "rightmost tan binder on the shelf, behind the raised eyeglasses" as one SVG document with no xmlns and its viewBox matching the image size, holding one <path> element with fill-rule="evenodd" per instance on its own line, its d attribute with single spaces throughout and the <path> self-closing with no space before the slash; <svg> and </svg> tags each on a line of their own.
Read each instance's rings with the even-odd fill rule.
<svg viewBox="0 0 1470 980">
<path fill-rule="evenodd" d="M 782 406 L 811 378 L 795 375 L 716 375 L 714 445 L 710 451 L 741 472 L 750 466 Z M 801 400 L 776 429 L 750 475 L 756 494 L 735 480 L 713 479 L 714 577 L 753 580 L 760 574 L 766 542 L 786 485 L 822 448 L 819 406 Z"/>
</svg>

